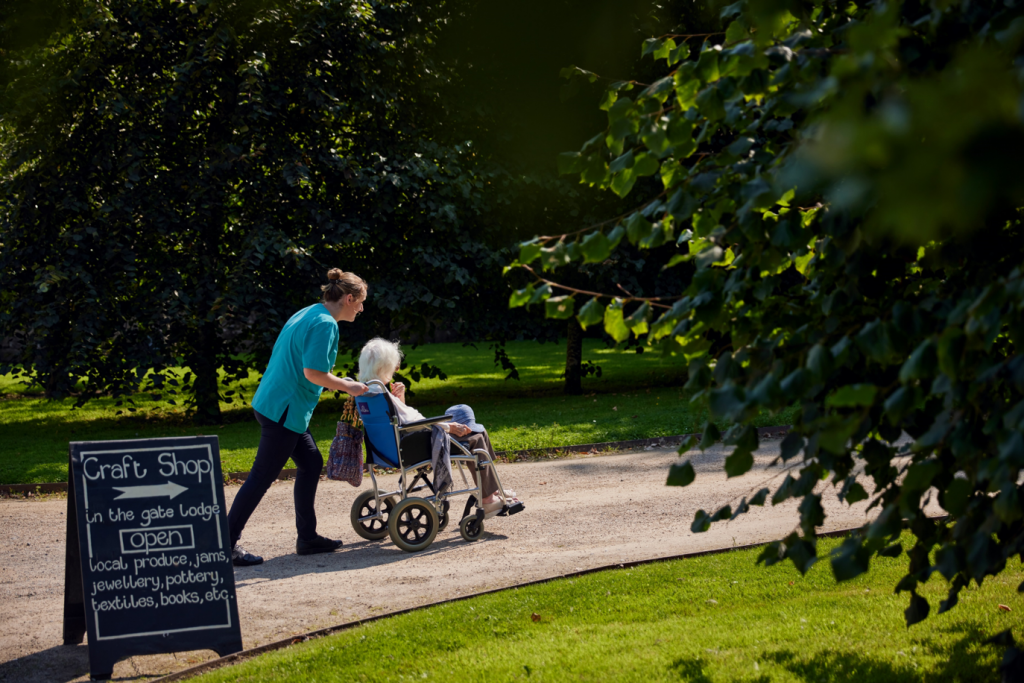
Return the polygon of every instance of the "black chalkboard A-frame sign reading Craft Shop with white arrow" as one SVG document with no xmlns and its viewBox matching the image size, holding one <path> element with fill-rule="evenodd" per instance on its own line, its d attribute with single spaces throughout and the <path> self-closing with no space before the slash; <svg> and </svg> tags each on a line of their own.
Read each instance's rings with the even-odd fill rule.
<svg viewBox="0 0 1024 683">
<path fill-rule="evenodd" d="M 65 643 L 89 672 L 242 649 L 216 436 L 70 444 Z"/>
</svg>

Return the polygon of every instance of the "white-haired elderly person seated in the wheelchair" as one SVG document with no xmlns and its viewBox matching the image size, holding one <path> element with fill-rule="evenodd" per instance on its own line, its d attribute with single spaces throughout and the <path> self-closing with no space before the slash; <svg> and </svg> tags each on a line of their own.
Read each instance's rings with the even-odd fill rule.
<svg viewBox="0 0 1024 683">
<path fill-rule="evenodd" d="M 401 382 L 391 381 L 401 366 L 401 358 L 402 353 L 398 344 L 381 339 L 380 337 L 371 339 L 359 352 L 359 381 L 370 385 L 368 393 L 371 394 L 381 392 L 380 385 L 376 383 L 370 384 L 374 380 L 387 386 L 399 424 L 408 424 L 424 420 L 425 418 L 415 408 L 406 403 L 406 385 Z M 487 430 L 482 425 L 476 423 L 473 410 L 469 405 L 453 405 L 445 411 L 445 414 L 451 415 L 453 421 L 438 423 L 438 427 L 450 433 L 457 441 L 465 444 L 470 452 L 477 450 L 486 451 L 490 460 L 494 461 L 495 449 L 490 445 L 490 437 L 487 435 Z M 469 467 L 470 473 L 475 477 L 476 466 L 471 462 L 467 462 L 466 464 Z M 483 470 L 481 484 L 482 500 L 480 502 L 483 505 L 484 511 L 489 514 L 501 510 L 503 501 L 498 493 L 500 486 L 492 468 L 488 467 Z M 515 498 L 515 492 L 506 490 L 505 496 L 510 503 L 518 502 L 518 499 Z"/>
</svg>

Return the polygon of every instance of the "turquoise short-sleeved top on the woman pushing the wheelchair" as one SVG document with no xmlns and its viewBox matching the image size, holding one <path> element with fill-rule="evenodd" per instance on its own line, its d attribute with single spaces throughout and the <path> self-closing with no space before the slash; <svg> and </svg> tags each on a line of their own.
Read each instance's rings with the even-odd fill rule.
<svg viewBox="0 0 1024 683">
<path fill-rule="evenodd" d="M 292 315 L 273 344 L 270 362 L 253 396 L 253 409 L 274 422 L 288 411 L 285 427 L 302 433 L 323 387 L 305 378 L 303 369 L 329 373 L 338 357 L 338 323 L 327 307 L 313 304 Z"/>
</svg>

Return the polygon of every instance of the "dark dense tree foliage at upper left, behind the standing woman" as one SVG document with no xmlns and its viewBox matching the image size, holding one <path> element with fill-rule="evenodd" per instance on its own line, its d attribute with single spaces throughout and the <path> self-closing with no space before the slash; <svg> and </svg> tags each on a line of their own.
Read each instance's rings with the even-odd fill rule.
<svg viewBox="0 0 1024 683">
<path fill-rule="evenodd" d="M 370 332 L 521 317 L 480 276 L 514 187 L 445 127 L 457 3 L 51 4 L 35 41 L 3 34 L 0 83 L 0 338 L 48 395 L 183 391 L 217 419 L 218 371 L 261 371 L 334 266 L 370 283 Z"/>
</svg>

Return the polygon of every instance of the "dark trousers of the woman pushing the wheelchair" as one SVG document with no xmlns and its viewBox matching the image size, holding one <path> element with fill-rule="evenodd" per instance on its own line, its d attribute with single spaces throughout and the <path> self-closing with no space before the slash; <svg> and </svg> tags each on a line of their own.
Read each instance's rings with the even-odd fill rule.
<svg viewBox="0 0 1024 683">
<path fill-rule="evenodd" d="M 313 500 L 316 498 L 319 473 L 324 469 L 324 457 L 308 429 L 300 434 L 285 427 L 287 417 L 287 410 L 279 422 L 256 413 L 256 421 L 260 426 L 256 461 L 242 488 L 239 489 L 239 495 L 234 497 L 234 502 L 231 503 L 231 511 L 227 513 L 227 526 L 231 530 L 231 548 L 239 542 L 246 522 L 263 500 L 263 494 L 281 474 L 289 458 L 298 469 L 295 475 L 295 528 L 303 541 L 316 538 Z"/>
</svg>

